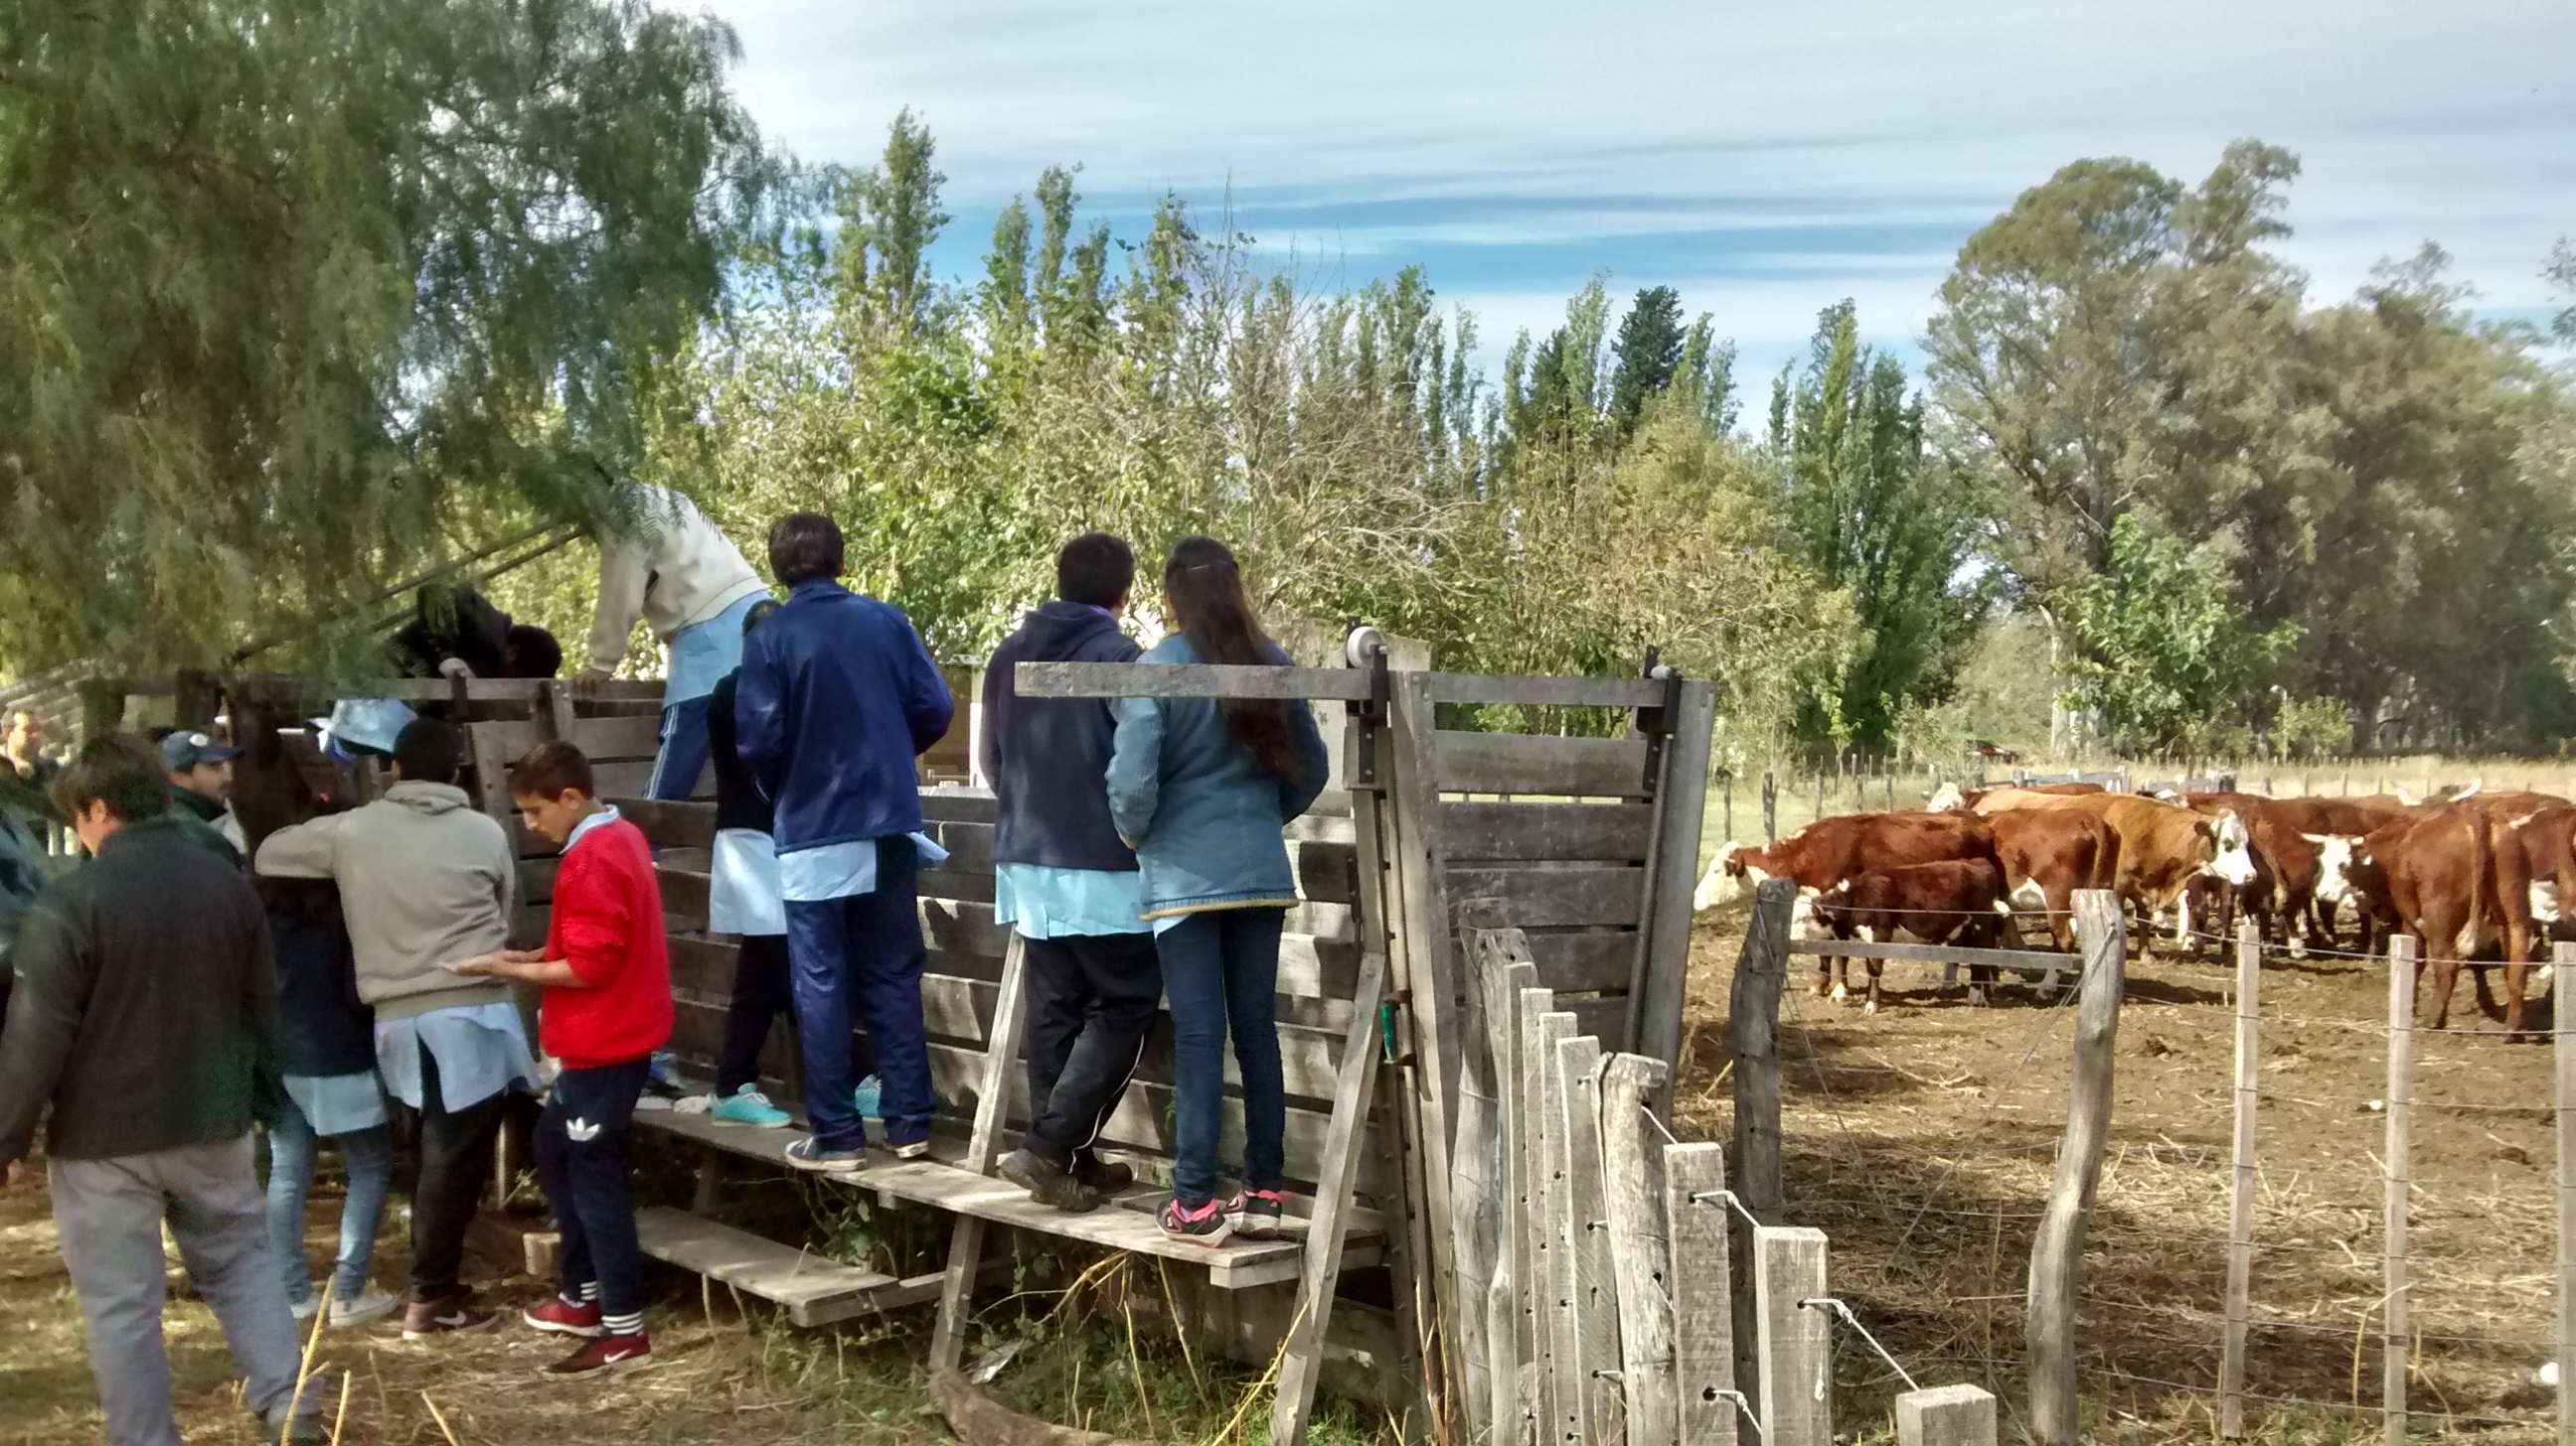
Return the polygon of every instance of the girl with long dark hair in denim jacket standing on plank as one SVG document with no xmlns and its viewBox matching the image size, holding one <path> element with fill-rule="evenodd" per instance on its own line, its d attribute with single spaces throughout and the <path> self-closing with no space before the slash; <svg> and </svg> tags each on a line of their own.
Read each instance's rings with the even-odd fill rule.
<svg viewBox="0 0 2576 1446">
<path fill-rule="evenodd" d="M 1275 664 L 1234 553 L 1182 538 L 1162 569 L 1177 628 L 1149 664 Z M 1172 998 L 1177 1150 L 1170 1235 L 1275 1235 L 1288 1099 L 1280 1081 L 1280 929 L 1296 875 L 1280 828 L 1324 792 L 1324 738 L 1303 705 L 1267 697 L 1128 697 L 1108 769 L 1110 818 L 1136 849 L 1141 913 Z M 1244 1189 L 1216 1199 L 1226 1034 L 1244 1075 Z"/>
</svg>

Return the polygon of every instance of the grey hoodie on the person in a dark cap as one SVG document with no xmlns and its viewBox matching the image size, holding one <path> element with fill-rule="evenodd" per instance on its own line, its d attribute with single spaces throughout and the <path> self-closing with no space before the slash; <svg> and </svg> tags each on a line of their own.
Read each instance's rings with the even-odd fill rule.
<svg viewBox="0 0 2576 1446">
<path fill-rule="evenodd" d="M 358 998 L 376 1019 L 510 998 L 502 983 L 464 983 L 440 967 L 510 939 L 518 859 L 466 790 L 397 782 L 366 808 L 278 828 L 260 844 L 258 872 L 337 880 Z"/>
</svg>

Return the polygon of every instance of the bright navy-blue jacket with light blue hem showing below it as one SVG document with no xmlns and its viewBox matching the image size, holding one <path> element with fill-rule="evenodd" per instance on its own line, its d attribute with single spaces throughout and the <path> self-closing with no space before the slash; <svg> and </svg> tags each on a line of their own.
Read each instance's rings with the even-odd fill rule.
<svg viewBox="0 0 2576 1446">
<path fill-rule="evenodd" d="M 922 826 L 912 762 L 956 700 L 902 607 L 817 579 L 742 641 L 734 746 L 778 808 L 778 852 Z"/>
</svg>

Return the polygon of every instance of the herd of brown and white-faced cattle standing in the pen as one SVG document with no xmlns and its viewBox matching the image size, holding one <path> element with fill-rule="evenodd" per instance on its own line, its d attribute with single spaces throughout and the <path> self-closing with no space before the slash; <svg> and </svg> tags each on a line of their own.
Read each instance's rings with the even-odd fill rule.
<svg viewBox="0 0 2576 1446">
<path fill-rule="evenodd" d="M 1960 790 L 1922 810 L 1819 818 L 1777 844 L 1726 844 L 1700 877 L 1698 908 L 1749 885 L 1798 885 L 1795 929 L 1837 939 L 1991 949 L 2045 919 L 2074 949 L 2074 890 L 2120 895 L 2146 937 L 2182 947 L 2223 939 L 2244 913 L 2269 944 L 2370 955 L 2411 934 L 2432 967 L 2432 1027 L 2450 1024 L 2460 965 L 2504 965 L 2504 1034 L 2524 1037 L 2524 985 L 2576 890 L 2576 805 L 2548 792 L 2476 785 L 2429 803 L 2406 795 L 2264 798 L 2254 792 L 2105 792 L 2092 782 Z M 2342 929 L 2352 906 L 2352 931 Z M 2197 929 L 2195 929 L 2197 926 Z M 2419 965 L 2419 967 L 2421 967 Z M 1844 960 L 1824 960 L 1816 993 L 1847 996 Z M 1878 960 L 1868 1009 L 1878 1011 Z M 1971 965 L 1984 1003 L 1989 967 Z M 1955 967 L 1942 988 L 1955 983 Z M 2478 973 L 2486 1001 L 2486 975 Z"/>
</svg>

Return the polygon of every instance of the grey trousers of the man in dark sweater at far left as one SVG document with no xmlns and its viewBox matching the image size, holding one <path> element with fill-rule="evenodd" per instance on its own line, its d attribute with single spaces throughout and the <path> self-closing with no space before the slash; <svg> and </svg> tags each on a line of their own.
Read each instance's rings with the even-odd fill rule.
<svg viewBox="0 0 2576 1446">
<path fill-rule="evenodd" d="M 250 1135 L 118 1160 L 46 1160 L 62 1263 L 80 1292 L 108 1446 L 180 1446 L 162 1351 L 167 1220 L 188 1279 L 214 1307 L 242 1400 L 276 1425 L 296 1389 L 296 1320 L 268 1250 L 268 1199 Z M 307 1392 L 304 1410 L 319 1413 Z"/>
</svg>

